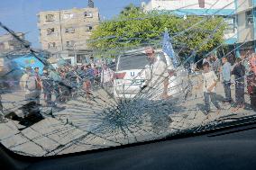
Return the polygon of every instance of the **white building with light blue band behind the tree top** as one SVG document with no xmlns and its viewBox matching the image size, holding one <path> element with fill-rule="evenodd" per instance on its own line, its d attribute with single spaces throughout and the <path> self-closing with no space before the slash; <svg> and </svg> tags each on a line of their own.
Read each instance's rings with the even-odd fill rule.
<svg viewBox="0 0 256 170">
<path fill-rule="evenodd" d="M 223 16 L 228 24 L 224 34 L 225 42 L 229 45 L 236 42 L 234 0 L 151 0 L 148 4 L 142 3 L 142 8 L 145 12 L 152 10 L 169 11 L 182 17 L 187 15 Z"/>
</svg>

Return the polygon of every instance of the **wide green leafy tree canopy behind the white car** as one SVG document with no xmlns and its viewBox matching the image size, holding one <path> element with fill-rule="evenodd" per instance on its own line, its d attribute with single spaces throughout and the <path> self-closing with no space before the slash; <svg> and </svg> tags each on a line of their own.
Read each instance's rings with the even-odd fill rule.
<svg viewBox="0 0 256 170">
<path fill-rule="evenodd" d="M 175 49 L 183 54 L 193 50 L 204 53 L 222 43 L 225 24 L 221 17 L 188 16 L 187 19 L 169 12 L 143 13 L 130 4 L 114 19 L 101 22 L 92 32 L 89 47 L 116 51 L 149 44 L 160 46 L 165 30 L 172 36 Z"/>
</svg>

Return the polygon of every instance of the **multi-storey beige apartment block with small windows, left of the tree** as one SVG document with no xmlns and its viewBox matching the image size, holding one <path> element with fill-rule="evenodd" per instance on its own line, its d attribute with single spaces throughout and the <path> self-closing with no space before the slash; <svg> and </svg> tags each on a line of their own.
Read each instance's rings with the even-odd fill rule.
<svg viewBox="0 0 256 170">
<path fill-rule="evenodd" d="M 98 22 L 99 12 L 94 7 L 38 13 L 41 47 L 72 65 L 81 63 L 87 55 L 87 40 Z"/>
</svg>

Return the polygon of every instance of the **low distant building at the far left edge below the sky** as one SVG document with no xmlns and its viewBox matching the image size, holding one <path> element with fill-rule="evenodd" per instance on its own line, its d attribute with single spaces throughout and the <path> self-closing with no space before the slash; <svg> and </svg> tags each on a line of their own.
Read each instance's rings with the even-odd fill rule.
<svg viewBox="0 0 256 170">
<path fill-rule="evenodd" d="M 25 34 L 22 32 L 16 32 L 16 35 L 24 40 Z M 29 43 L 28 41 L 25 41 Z M 0 36 L 0 53 L 9 52 L 15 49 L 21 49 L 23 45 L 20 41 L 16 40 L 13 35 L 6 33 Z"/>
</svg>

